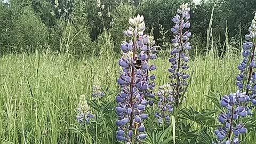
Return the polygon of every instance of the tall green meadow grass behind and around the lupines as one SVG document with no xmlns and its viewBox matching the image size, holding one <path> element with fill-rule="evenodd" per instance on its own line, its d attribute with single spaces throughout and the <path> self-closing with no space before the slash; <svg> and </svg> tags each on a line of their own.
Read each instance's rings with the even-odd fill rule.
<svg viewBox="0 0 256 144">
<path fill-rule="evenodd" d="M 191 80 L 183 105 L 195 111 L 215 109 L 206 95 L 221 96 L 236 91 L 239 60 L 239 55 L 231 53 L 223 58 L 212 51 L 205 56 L 195 55 L 189 63 Z M 96 128 L 83 132 L 76 122 L 76 108 L 79 95 L 85 94 L 90 100 L 92 85 L 105 85 L 113 92 L 105 97 L 113 101 L 106 110 L 115 115 L 117 61 L 117 58 L 101 57 L 76 59 L 48 51 L 3 55 L 0 58 L 0 143 L 116 143 L 113 140 L 117 117 L 92 110 L 97 115 L 93 122 Z M 157 85 L 168 83 L 167 58 L 159 57 L 155 63 Z M 109 118 L 110 123 L 104 118 Z M 194 127 L 199 129 L 200 125 Z"/>
</svg>

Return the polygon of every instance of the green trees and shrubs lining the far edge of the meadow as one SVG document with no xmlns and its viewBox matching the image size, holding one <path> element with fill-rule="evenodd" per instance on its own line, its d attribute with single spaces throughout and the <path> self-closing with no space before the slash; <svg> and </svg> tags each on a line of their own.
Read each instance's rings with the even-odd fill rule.
<svg viewBox="0 0 256 144">
<path fill-rule="evenodd" d="M 191 43 L 198 52 L 207 49 L 207 29 L 219 52 L 225 43 L 244 40 L 253 18 L 254 0 L 201 0 L 191 7 Z M 106 47 L 105 40 L 119 53 L 124 40 L 121 31 L 137 13 L 143 14 L 146 33 L 154 35 L 163 49 L 170 47 L 172 17 L 182 0 L 2 0 L 0 3 L 0 53 L 19 53 L 51 49 L 54 52 L 99 55 Z M 227 41 L 228 40 L 228 41 Z M 108 46 L 109 46 L 108 45 Z M 234 45 L 239 49 L 240 45 Z M 109 49 L 109 48 L 108 48 Z"/>
</svg>

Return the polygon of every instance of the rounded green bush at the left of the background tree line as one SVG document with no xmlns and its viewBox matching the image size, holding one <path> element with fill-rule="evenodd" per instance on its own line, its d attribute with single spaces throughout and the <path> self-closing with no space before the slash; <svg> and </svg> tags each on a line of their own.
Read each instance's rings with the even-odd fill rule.
<svg viewBox="0 0 256 144">
<path fill-rule="evenodd" d="M 18 49 L 33 50 L 47 42 L 49 31 L 30 8 L 25 9 L 14 26 L 12 42 Z M 26 48 L 27 47 L 27 48 Z"/>
</svg>

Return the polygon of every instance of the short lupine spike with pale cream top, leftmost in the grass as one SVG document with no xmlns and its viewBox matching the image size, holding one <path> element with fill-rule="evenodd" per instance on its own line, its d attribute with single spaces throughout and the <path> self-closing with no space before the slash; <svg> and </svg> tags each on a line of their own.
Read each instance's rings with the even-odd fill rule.
<svg viewBox="0 0 256 144">
<path fill-rule="evenodd" d="M 85 95 L 80 95 L 77 112 L 78 114 L 76 116 L 76 119 L 78 123 L 86 122 L 88 124 L 90 122 L 90 119 L 93 118 L 93 114 L 91 114 L 90 112 L 90 107 L 87 104 Z"/>
</svg>

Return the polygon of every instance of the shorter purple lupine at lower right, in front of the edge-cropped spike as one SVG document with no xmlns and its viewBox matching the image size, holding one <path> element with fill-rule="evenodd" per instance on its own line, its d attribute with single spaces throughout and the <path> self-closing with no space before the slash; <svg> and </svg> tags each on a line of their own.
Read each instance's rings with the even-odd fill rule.
<svg viewBox="0 0 256 144">
<path fill-rule="evenodd" d="M 236 122 L 239 117 L 251 115 L 250 109 L 243 105 L 247 102 L 247 98 L 245 92 L 239 91 L 231 93 L 229 96 L 224 95 L 221 98 L 221 106 L 225 107 L 227 111 L 222 111 L 218 116 L 219 122 L 223 124 L 223 127 L 218 127 L 218 130 L 215 130 L 218 143 L 238 143 L 239 135 L 247 132 L 243 124 Z M 233 138 L 231 138 L 231 133 L 234 133 Z"/>
</svg>

